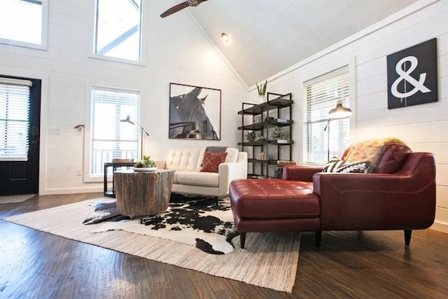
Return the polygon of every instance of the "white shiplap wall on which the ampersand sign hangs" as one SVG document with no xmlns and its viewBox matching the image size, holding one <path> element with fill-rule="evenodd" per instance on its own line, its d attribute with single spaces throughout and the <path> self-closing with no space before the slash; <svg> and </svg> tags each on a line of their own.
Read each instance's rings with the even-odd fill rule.
<svg viewBox="0 0 448 299">
<path fill-rule="evenodd" d="M 432 228 L 448 232 L 448 1 L 420 1 L 414 9 L 373 27 L 269 78 L 267 90 L 293 92 L 293 138 L 302 140 L 303 82 L 349 64 L 352 143 L 398 137 L 413 151 L 434 153 L 437 209 Z M 388 110 L 386 56 L 433 38 L 437 38 L 438 102 Z M 251 97 L 256 98 L 256 90 Z M 293 150 L 293 159 L 299 162 L 300 147 L 296 142 Z"/>
</svg>

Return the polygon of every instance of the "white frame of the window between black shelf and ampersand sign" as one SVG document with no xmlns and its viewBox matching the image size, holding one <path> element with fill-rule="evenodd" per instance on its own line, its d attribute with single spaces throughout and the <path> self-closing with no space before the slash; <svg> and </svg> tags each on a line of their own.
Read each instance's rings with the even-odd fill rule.
<svg viewBox="0 0 448 299">
<path fill-rule="evenodd" d="M 356 127 L 356 109 L 355 109 L 355 99 L 354 95 L 356 95 L 356 90 L 355 90 L 355 86 L 356 86 L 356 78 L 355 78 L 355 63 L 354 63 L 354 59 L 349 62 L 348 64 L 344 64 L 344 65 L 339 65 L 338 67 L 335 67 L 333 69 L 325 69 L 325 71 L 321 72 L 321 75 L 318 75 L 314 78 L 310 78 L 309 80 L 304 82 L 304 87 L 303 87 L 303 91 L 304 91 L 304 102 L 303 102 L 303 127 L 302 127 L 302 136 L 303 136 L 303 143 L 302 143 L 302 164 L 304 165 L 325 165 L 325 162 L 327 161 L 327 155 L 328 155 L 328 127 L 327 130 L 323 130 L 323 128 L 325 128 L 325 126 L 328 123 L 328 112 L 330 111 L 330 109 L 335 108 L 336 104 L 337 104 L 337 98 L 334 99 L 328 99 L 329 103 L 331 102 L 330 106 L 328 106 L 328 111 L 325 113 L 325 115 L 321 116 L 321 118 L 316 118 L 314 120 L 311 120 L 311 122 L 316 122 L 318 124 L 320 124 L 320 126 L 322 127 L 322 134 L 320 134 L 320 137 L 322 139 L 324 139 L 324 144 L 325 144 L 325 148 L 324 148 L 324 155 L 325 157 L 321 159 L 321 161 L 316 161 L 316 160 L 310 160 L 309 159 L 309 141 L 308 141 L 308 132 L 307 132 L 307 125 L 309 120 L 307 119 L 307 85 L 309 85 L 309 83 L 318 83 L 319 81 L 321 81 L 322 79 L 325 78 L 329 78 L 328 75 L 330 74 L 335 74 L 334 72 L 337 72 L 338 70 L 342 69 L 342 68 L 346 68 L 347 71 L 347 82 L 349 83 L 349 94 L 346 96 L 345 99 L 342 99 L 343 101 L 343 106 L 346 108 L 350 108 L 353 112 L 352 116 L 350 118 L 347 118 L 345 120 L 331 120 L 330 121 L 330 134 L 334 134 L 334 132 L 338 132 L 339 130 L 339 126 L 343 125 L 344 122 L 348 123 L 348 130 L 347 130 L 347 134 L 349 135 L 349 141 L 347 144 L 345 144 L 344 146 L 349 146 L 349 144 L 352 144 L 353 142 L 353 132 L 355 130 Z M 331 75 L 330 75 L 331 76 Z M 326 108 L 325 108 L 326 111 Z M 334 139 L 334 137 L 332 137 L 331 139 Z M 332 142 L 330 141 L 330 144 L 332 144 Z M 344 146 L 340 146 L 341 148 L 337 148 L 337 153 L 335 153 L 334 148 L 331 147 L 330 148 L 330 158 L 332 158 L 333 156 L 340 156 L 342 155 L 342 153 L 344 153 L 345 148 Z"/>
</svg>

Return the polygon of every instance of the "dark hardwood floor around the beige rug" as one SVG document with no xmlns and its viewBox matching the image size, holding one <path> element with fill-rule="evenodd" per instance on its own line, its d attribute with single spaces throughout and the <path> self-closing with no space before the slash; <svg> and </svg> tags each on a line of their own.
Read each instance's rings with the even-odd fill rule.
<svg viewBox="0 0 448 299">
<path fill-rule="evenodd" d="M 0 204 L 0 218 L 99 193 Z M 250 234 L 248 234 L 250 237 Z M 303 233 L 293 294 L 250 286 L 0 221 L 0 298 L 447 298 L 448 235 Z"/>
</svg>

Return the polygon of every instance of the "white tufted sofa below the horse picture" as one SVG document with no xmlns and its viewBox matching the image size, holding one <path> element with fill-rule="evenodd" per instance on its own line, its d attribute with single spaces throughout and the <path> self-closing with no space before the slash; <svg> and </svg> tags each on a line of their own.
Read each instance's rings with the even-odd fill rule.
<svg viewBox="0 0 448 299">
<path fill-rule="evenodd" d="M 247 153 L 237 148 L 226 148 L 225 162 L 218 173 L 200 172 L 204 158 L 203 148 L 172 148 L 165 161 L 155 161 L 159 169 L 173 169 L 172 192 L 224 197 L 229 193 L 230 182 L 247 177 Z"/>
</svg>

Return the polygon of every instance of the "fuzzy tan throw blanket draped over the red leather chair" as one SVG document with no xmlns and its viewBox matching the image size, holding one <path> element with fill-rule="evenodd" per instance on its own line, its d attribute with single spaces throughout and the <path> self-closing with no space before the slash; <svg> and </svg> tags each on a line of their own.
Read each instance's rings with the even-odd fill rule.
<svg viewBox="0 0 448 299">
<path fill-rule="evenodd" d="M 370 167 L 368 172 L 372 173 L 377 168 L 379 159 L 383 155 L 386 148 L 391 144 L 400 144 L 406 146 L 406 144 L 397 138 L 385 138 L 385 139 L 373 139 L 368 141 L 359 142 L 351 147 L 351 150 L 346 155 L 345 160 L 350 162 L 358 161 L 370 161 Z"/>
</svg>

